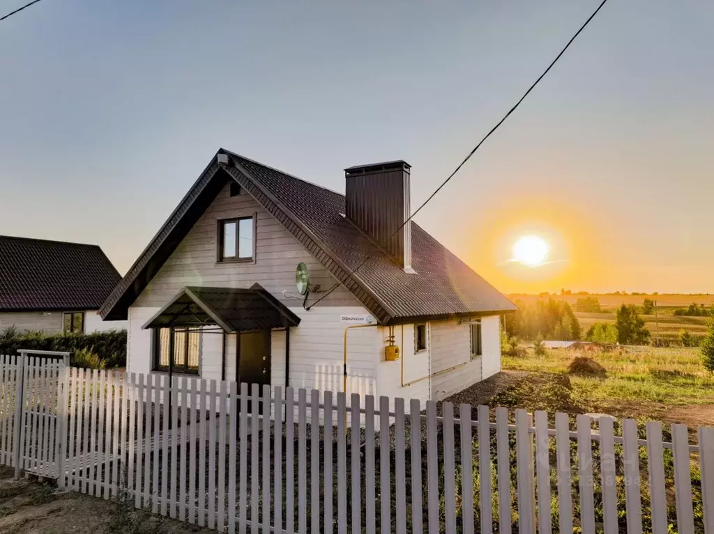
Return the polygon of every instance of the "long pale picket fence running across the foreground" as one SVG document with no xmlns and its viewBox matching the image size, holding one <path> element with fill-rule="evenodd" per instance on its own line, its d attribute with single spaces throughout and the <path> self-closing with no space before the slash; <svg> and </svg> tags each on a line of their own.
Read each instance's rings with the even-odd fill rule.
<svg viewBox="0 0 714 534">
<path fill-rule="evenodd" d="M 714 533 L 713 428 L 15 356 L 0 380 L 0 463 L 221 532 Z"/>
</svg>

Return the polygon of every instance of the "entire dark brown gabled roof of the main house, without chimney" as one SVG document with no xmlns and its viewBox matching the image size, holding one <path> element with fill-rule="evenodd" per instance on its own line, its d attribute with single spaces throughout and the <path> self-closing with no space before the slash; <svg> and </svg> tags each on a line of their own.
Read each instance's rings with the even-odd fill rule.
<svg viewBox="0 0 714 534">
<path fill-rule="evenodd" d="M 376 252 L 356 274 L 348 277 L 373 252 L 374 245 L 344 217 L 343 195 L 227 150 L 221 149 L 219 153 L 228 154 L 231 165 L 218 165 L 213 158 L 104 303 L 100 310 L 104 318 L 126 319 L 128 307 L 231 178 L 276 217 L 331 274 L 344 280 L 345 287 L 381 324 L 516 309 L 498 289 L 416 223 L 411 225 L 412 267 L 416 274 L 404 272 L 383 252 Z"/>
</svg>

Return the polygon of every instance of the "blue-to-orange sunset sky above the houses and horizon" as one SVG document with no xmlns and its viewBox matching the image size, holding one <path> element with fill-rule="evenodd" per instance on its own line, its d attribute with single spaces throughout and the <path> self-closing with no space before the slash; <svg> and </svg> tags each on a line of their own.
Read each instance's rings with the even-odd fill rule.
<svg viewBox="0 0 714 534">
<path fill-rule="evenodd" d="M 338 191 L 403 159 L 416 207 L 598 3 L 41 1 L 0 22 L 0 234 L 123 274 L 220 147 Z M 609 0 L 416 222 L 504 292 L 714 292 L 713 20 Z"/>
</svg>

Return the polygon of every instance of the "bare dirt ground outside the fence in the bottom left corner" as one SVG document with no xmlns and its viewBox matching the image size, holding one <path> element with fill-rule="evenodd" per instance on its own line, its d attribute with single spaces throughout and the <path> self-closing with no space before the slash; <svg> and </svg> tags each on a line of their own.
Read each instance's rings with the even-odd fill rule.
<svg viewBox="0 0 714 534">
<path fill-rule="evenodd" d="M 0 468 L 0 532 L 3 534 L 209 533 L 176 520 L 135 510 L 133 503 L 101 500 L 21 478 Z"/>
</svg>

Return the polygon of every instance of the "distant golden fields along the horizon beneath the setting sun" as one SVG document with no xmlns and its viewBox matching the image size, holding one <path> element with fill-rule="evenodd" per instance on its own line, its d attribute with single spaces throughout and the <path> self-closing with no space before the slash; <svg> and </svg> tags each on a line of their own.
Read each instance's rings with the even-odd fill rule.
<svg viewBox="0 0 714 534">
<path fill-rule="evenodd" d="M 580 327 L 583 332 L 587 332 L 595 323 L 610 323 L 615 324 L 615 310 L 622 304 L 642 305 L 644 299 L 653 299 L 657 301 L 657 315 L 642 315 L 645 319 L 645 326 L 652 334 L 652 339 L 657 339 L 659 331 L 660 339 L 675 339 L 680 330 L 690 332 L 695 338 L 701 339 L 707 331 L 706 317 L 688 317 L 685 315 L 675 315 L 675 309 L 686 308 L 689 304 L 704 304 L 707 307 L 714 303 L 714 295 L 712 294 L 668 294 L 668 295 L 598 295 L 590 294 L 588 297 L 595 297 L 600 302 L 602 312 L 586 313 L 575 311 L 575 302 L 585 295 L 547 295 L 538 297 L 537 295 L 513 294 L 508 295 L 508 298 L 513 302 L 521 301 L 524 304 L 533 304 L 537 300 L 553 299 L 558 301 L 567 301 L 575 311 L 575 317 L 578 317 Z"/>
</svg>

